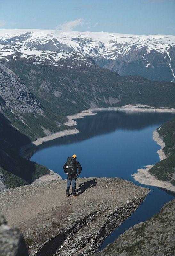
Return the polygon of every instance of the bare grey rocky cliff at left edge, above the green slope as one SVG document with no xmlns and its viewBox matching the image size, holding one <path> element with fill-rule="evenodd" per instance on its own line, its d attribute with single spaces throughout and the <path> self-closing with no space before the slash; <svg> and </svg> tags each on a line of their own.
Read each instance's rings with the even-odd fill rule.
<svg viewBox="0 0 175 256">
<path fill-rule="evenodd" d="M 43 114 L 39 101 L 22 83 L 19 76 L 0 63 L 0 110 L 6 109 Z"/>
</svg>

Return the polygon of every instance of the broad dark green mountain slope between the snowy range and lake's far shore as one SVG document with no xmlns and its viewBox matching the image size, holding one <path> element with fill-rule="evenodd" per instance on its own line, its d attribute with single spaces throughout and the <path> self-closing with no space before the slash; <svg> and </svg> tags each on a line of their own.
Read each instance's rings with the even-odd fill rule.
<svg viewBox="0 0 175 256">
<path fill-rule="evenodd" d="M 70 66 L 72 68 L 70 68 Z M 150 81 L 139 76 L 119 76 L 94 63 L 77 66 L 65 60 L 62 68 L 11 61 L 9 67 L 39 99 L 45 115 L 63 122 L 68 114 L 96 107 L 146 104 L 175 107 L 175 86 L 169 82 Z"/>
</svg>

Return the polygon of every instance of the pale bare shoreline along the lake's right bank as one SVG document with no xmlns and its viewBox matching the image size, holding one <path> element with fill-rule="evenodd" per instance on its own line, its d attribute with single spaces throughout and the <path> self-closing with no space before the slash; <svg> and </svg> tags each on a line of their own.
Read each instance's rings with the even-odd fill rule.
<svg viewBox="0 0 175 256">
<path fill-rule="evenodd" d="M 161 149 L 157 150 L 157 153 L 159 155 L 160 161 L 163 159 L 166 159 L 166 155 L 163 152 L 163 148 L 165 147 L 165 143 L 161 139 L 159 133 L 157 130 L 154 130 L 153 132 L 153 140 L 157 142 L 158 145 L 161 146 Z M 153 165 L 147 165 L 146 168 L 138 169 L 137 173 L 132 174 L 134 180 L 138 181 L 141 184 L 149 185 L 149 186 L 155 186 L 159 188 L 163 188 L 166 190 L 170 190 L 171 192 L 175 192 L 175 186 L 167 181 L 158 180 L 153 174 L 149 173 L 149 170 L 154 166 Z"/>
</svg>

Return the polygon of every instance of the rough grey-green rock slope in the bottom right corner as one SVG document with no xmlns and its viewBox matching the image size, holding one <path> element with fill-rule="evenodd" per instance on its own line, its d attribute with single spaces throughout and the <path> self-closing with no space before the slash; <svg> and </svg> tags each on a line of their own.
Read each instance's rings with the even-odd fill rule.
<svg viewBox="0 0 175 256">
<path fill-rule="evenodd" d="M 175 255 L 175 199 L 151 219 L 136 224 L 94 256 Z"/>
</svg>

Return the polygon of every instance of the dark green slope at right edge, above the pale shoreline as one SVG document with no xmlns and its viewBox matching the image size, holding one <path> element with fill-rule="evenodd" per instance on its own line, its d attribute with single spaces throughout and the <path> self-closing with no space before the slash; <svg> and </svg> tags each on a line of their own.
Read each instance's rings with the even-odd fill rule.
<svg viewBox="0 0 175 256">
<path fill-rule="evenodd" d="M 163 151 L 168 158 L 155 164 L 149 172 L 154 174 L 159 180 L 169 181 L 175 185 L 173 178 L 175 173 L 175 119 L 163 124 L 160 129 L 157 129 L 157 132 L 159 132 L 166 144 Z"/>
</svg>

